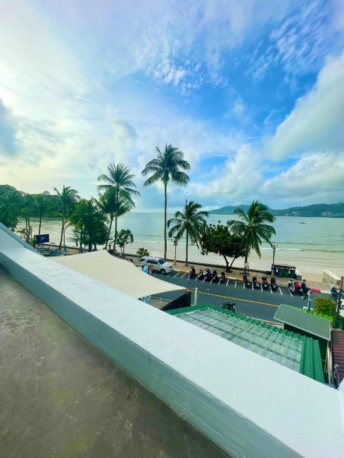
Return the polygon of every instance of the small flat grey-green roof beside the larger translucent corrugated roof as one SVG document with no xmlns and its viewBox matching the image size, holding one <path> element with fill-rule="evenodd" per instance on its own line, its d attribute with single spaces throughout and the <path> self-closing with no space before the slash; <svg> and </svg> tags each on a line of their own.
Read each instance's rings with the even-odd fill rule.
<svg viewBox="0 0 344 458">
<path fill-rule="evenodd" d="M 314 314 L 304 313 L 303 309 L 281 304 L 275 313 L 274 319 L 293 326 L 309 334 L 326 340 L 331 340 L 331 322 Z"/>
</svg>

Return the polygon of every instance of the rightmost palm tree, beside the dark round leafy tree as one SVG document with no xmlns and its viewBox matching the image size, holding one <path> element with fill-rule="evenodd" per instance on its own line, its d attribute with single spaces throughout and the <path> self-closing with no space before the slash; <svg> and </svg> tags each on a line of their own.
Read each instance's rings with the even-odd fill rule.
<svg viewBox="0 0 344 458">
<path fill-rule="evenodd" d="M 245 252 L 245 273 L 248 256 L 253 249 L 261 257 L 259 246 L 262 240 L 270 243 L 271 236 L 276 234 L 275 228 L 266 224 L 273 223 L 276 218 L 266 205 L 253 201 L 247 213 L 241 208 L 236 208 L 234 214 L 238 215 L 241 221 L 230 220 L 228 227 L 235 235 L 242 237 L 242 247 Z"/>
</svg>

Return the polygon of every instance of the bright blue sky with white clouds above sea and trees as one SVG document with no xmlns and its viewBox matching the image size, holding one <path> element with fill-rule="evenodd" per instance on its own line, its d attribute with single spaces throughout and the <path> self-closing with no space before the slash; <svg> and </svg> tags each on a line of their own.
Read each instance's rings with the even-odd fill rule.
<svg viewBox="0 0 344 458">
<path fill-rule="evenodd" d="M 344 200 L 344 3 L 0 0 L 0 184 L 96 195 L 166 142 L 208 208 Z M 162 188 L 137 210 L 162 210 Z"/>
</svg>

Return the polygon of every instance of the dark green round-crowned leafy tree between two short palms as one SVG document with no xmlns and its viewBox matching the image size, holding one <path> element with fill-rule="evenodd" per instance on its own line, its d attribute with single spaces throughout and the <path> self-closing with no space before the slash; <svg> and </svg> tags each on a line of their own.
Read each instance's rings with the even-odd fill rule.
<svg viewBox="0 0 344 458">
<path fill-rule="evenodd" d="M 245 256 L 241 237 L 231 234 L 228 226 L 221 224 L 220 221 L 218 224 L 204 226 L 199 243 L 203 255 L 216 253 L 223 257 L 226 263 L 226 272 L 230 271 L 238 257 Z M 230 265 L 228 259 L 232 259 Z"/>
</svg>

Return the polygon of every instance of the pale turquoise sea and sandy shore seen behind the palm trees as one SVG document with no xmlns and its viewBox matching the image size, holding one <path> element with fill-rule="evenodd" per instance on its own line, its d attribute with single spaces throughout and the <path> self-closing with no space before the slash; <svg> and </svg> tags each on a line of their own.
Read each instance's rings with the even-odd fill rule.
<svg viewBox="0 0 344 458">
<path fill-rule="evenodd" d="M 173 214 L 168 214 L 172 218 Z M 208 222 L 226 223 L 236 219 L 235 215 L 210 215 Z M 301 224 L 300 224 L 301 223 Z M 304 224 L 303 224 L 304 223 Z M 33 234 L 38 233 L 38 219 L 32 218 Z M 18 228 L 24 221 L 19 221 Z M 342 218 L 301 218 L 277 216 L 274 223 L 276 236 L 273 243 L 277 245 L 275 263 L 295 265 L 304 276 L 321 281 L 323 269 L 344 273 L 344 219 Z M 118 228 L 130 229 L 135 242 L 126 247 L 128 253 L 136 253 L 140 247 L 147 248 L 151 255 L 161 256 L 164 253 L 164 214 L 130 212 L 118 220 Z M 42 234 L 49 234 L 50 241 L 59 243 L 61 219 L 47 218 L 42 220 Z M 66 242 L 69 241 L 71 229 L 66 229 Z M 177 259 L 185 259 L 186 240 L 180 239 L 177 246 Z M 174 246 L 168 240 L 168 257 L 174 257 Z M 196 245 L 189 246 L 189 261 L 223 263 L 222 257 L 216 254 L 202 256 Z M 249 259 L 251 268 L 269 269 L 272 263 L 272 249 L 267 243 L 261 246 L 261 259 L 252 253 Z M 234 266 L 242 267 L 243 260 L 235 261 Z"/>
</svg>

